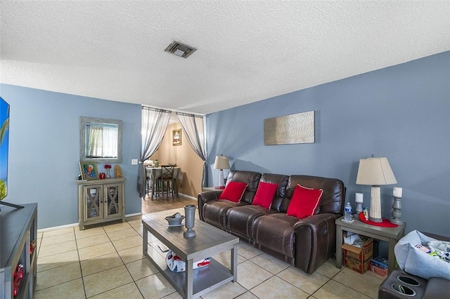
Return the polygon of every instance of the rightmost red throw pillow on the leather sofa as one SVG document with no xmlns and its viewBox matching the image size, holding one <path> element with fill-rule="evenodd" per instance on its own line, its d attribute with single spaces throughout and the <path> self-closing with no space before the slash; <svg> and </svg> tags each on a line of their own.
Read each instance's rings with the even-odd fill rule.
<svg viewBox="0 0 450 299">
<path fill-rule="evenodd" d="M 286 214 L 303 219 L 314 215 L 319 202 L 321 201 L 323 190 L 295 186 L 293 198 L 290 199 Z"/>
</svg>

